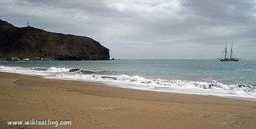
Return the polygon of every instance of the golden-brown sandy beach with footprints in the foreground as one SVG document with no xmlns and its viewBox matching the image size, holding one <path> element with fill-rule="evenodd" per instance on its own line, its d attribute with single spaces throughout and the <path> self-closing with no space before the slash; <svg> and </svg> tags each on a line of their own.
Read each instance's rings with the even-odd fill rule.
<svg viewBox="0 0 256 129">
<path fill-rule="evenodd" d="M 0 72 L 0 128 L 256 128 L 256 102 Z M 72 125 L 8 125 L 6 120 Z"/>
</svg>

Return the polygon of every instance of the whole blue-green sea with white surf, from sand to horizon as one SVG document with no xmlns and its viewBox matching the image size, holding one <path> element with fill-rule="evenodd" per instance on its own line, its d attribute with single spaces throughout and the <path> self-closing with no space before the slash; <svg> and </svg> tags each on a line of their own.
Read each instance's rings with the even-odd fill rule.
<svg viewBox="0 0 256 129">
<path fill-rule="evenodd" d="M 256 60 L 0 61 L 0 72 L 256 101 Z"/>
</svg>

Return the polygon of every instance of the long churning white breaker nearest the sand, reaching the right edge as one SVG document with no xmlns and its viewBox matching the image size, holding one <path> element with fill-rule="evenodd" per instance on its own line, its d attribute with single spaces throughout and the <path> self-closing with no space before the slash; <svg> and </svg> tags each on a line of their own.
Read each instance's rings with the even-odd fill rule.
<svg viewBox="0 0 256 129">
<path fill-rule="evenodd" d="M 77 79 L 92 79 L 92 80 L 101 80 L 102 82 L 117 82 L 118 84 L 130 84 L 133 86 L 144 86 L 149 87 L 151 90 L 161 89 L 158 91 L 168 91 L 173 89 L 177 91 L 180 89 L 186 91 L 186 93 L 204 93 L 204 95 L 214 95 L 215 93 L 228 94 L 227 96 L 246 96 L 248 98 L 256 99 L 256 85 L 246 85 L 246 84 L 222 84 L 221 82 L 200 82 L 200 81 L 188 81 L 188 80 L 164 80 L 164 79 L 145 79 L 138 75 L 128 76 L 128 75 L 118 75 L 118 76 L 108 76 L 108 75 L 80 75 L 76 77 Z M 177 88 L 177 89 L 175 89 Z M 142 88 L 143 89 L 143 88 Z M 166 89 L 166 90 L 163 90 Z M 213 93 L 211 93 L 213 92 Z"/>
</svg>

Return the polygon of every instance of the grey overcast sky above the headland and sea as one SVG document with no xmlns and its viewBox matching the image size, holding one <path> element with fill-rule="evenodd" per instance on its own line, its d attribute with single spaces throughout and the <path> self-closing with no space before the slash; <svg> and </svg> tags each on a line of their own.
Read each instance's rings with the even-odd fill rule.
<svg viewBox="0 0 256 129">
<path fill-rule="evenodd" d="M 89 36 L 116 59 L 256 59 L 256 0 L 0 0 L 0 19 Z"/>
</svg>

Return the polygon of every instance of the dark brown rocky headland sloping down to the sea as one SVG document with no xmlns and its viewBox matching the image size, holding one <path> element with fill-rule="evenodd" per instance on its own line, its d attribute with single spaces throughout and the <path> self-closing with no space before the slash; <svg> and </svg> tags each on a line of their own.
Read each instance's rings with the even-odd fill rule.
<svg viewBox="0 0 256 129">
<path fill-rule="evenodd" d="M 0 58 L 44 57 L 56 60 L 108 60 L 109 49 L 86 36 L 15 27 L 0 20 Z"/>
</svg>

